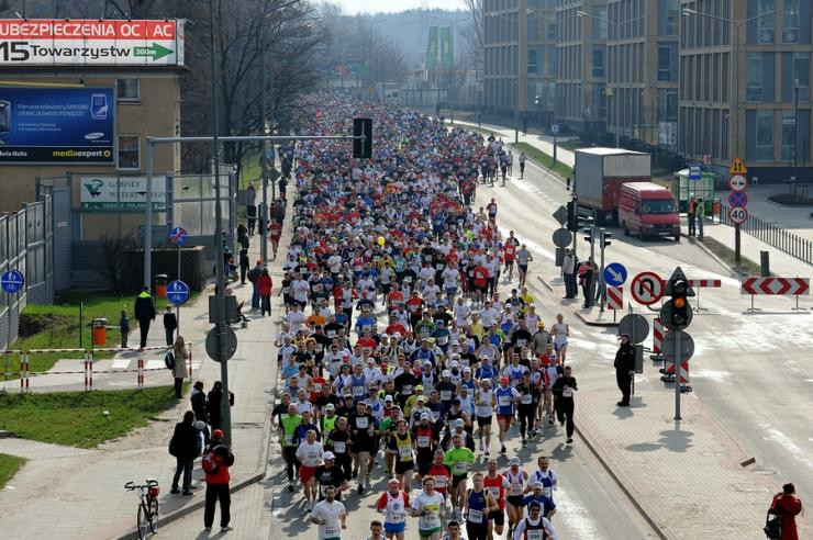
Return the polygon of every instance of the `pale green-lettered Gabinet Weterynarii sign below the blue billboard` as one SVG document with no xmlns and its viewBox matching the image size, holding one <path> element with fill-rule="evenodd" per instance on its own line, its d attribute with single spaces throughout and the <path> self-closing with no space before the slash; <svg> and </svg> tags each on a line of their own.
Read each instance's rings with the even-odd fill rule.
<svg viewBox="0 0 813 540">
<path fill-rule="evenodd" d="M 80 206 L 83 210 L 144 210 L 147 177 L 81 177 Z M 167 207 L 167 180 L 153 177 L 153 210 Z"/>
</svg>

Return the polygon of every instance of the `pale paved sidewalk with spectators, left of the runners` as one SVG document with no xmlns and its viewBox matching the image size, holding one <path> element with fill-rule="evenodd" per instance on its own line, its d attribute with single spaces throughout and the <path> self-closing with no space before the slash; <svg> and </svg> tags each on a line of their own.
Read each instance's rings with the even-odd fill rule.
<svg viewBox="0 0 813 540">
<path fill-rule="evenodd" d="M 283 227 L 281 245 L 287 245 L 290 227 Z M 269 248 L 270 251 L 270 248 Z M 258 259 L 259 236 L 252 238 L 253 260 Z M 281 282 L 281 260 L 272 265 L 275 285 Z M 250 284 L 233 285 L 240 301 L 250 306 Z M 196 347 L 196 361 L 201 361 L 192 382 L 203 381 L 209 391 L 221 379 L 220 364 L 205 357 L 202 344 L 209 330 L 208 295 L 202 294 L 194 304 L 181 307 L 181 333 Z M 276 301 L 276 299 L 275 299 Z M 276 303 L 276 302 L 275 302 Z M 158 307 L 163 306 L 163 302 Z M 275 312 L 278 308 L 275 305 Z M 249 318 L 256 314 L 245 311 Z M 266 469 L 269 410 L 275 400 L 277 362 L 274 336 L 277 325 L 274 317 L 253 318 L 245 329 L 235 328 L 237 351 L 229 362 L 229 386 L 235 394 L 232 408 L 233 448 L 235 465 L 232 468 L 232 486 L 259 481 Z M 151 330 L 148 345 L 163 345 L 160 328 Z M 167 385 L 172 379 L 166 374 Z M 158 480 L 162 486 L 162 516 L 202 505 L 203 490 L 191 497 L 170 495 L 175 472 L 175 458 L 167 452 L 167 445 L 175 423 L 190 409 L 189 396 L 167 410 L 149 426 L 126 437 L 109 441 L 97 449 L 48 445 L 48 452 L 40 450 L 41 443 L 20 439 L 0 439 L 0 452 L 29 459 L 23 469 L 0 492 L 0 524 L 8 538 L 83 538 L 107 539 L 130 535 L 135 527 L 137 496 L 123 488 L 127 481 Z M 202 487 L 202 472 L 196 468 L 193 482 Z"/>
</svg>

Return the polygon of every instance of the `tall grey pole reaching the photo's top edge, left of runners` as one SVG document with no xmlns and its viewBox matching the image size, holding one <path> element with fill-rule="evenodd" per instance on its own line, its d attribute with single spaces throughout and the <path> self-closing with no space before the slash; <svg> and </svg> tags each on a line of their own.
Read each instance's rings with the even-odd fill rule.
<svg viewBox="0 0 813 540">
<path fill-rule="evenodd" d="M 223 397 L 220 403 L 221 417 L 223 418 L 223 434 L 225 435 L 226 443 L 232 442 L 232 410 L 229 404 L 229 361 L 225 360 L 225 340 L 223 339 L 223 328 L 226 327 L 226 280 L 223 268 L 223 223 L 220 204 L 220 140 L 219 140 L 219 125 L 218 125 L 218 78 L 215 71 L 214 54 L 216 52 L 216 41 L 214 38 L 214 5 L 212 0 L 209 0 L 209 18 L 210 18 L 210 34 L 211 34 L 211 70 L 212 70 L 212 155 L 214 156 L 214 252 L 215 252 L 215 305 L 218 306 L 218 315 L 215 323 L 215 335 L 218 340 L 218 352 L 221 357 L 220 362 L 220 381 L 223 385 Z"/>
</svg>

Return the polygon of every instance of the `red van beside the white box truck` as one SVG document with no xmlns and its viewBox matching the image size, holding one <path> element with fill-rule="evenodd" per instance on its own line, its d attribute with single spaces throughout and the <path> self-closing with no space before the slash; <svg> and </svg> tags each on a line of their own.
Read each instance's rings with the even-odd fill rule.
<svg viewBox="0 0 813 540">
<path fill-rule="evenodd" d="M 680 216 L 671 191 L 653 182 L 627 182 L 619 196 L 619 222 L 624 234 L 638 238 L 671 236 L 680 241 Z"/>
</svg>

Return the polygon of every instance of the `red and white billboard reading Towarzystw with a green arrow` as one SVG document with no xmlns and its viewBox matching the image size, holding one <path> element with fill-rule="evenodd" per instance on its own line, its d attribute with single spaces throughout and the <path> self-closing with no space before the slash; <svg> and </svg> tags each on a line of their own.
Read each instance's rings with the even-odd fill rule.
<svg viewBox="0 0 813 540">
<path fill-rule="evenodd" d="M 182 65 L 182 19 L 0 19 L 0 66 Z"/>
</svg>

